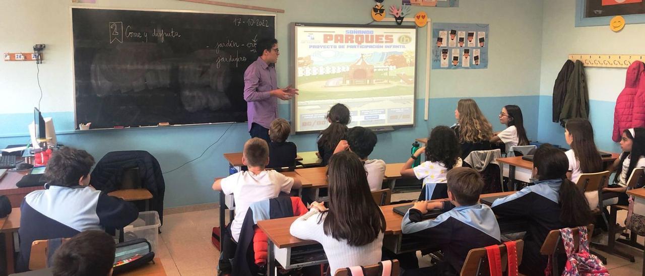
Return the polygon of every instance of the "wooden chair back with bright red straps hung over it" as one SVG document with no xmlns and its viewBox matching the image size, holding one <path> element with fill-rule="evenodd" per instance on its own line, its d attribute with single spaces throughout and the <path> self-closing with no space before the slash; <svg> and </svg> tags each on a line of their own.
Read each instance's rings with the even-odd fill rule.
<svg viewBox="0 0 645 276">
<path fill-rule="evenodd" d="M 517 250 L 517 266 L 522 263 L 522 251 L 524 250 L 524 241 L 517 240 L 515 241 L 515 249 Z M 508 264 L 508 254 L 506 252 L 506 246 L 504 244 L 499 245 L 499 252 L 502 255 L 502 271 L 506 271 L 506 266 Z M 468 251 L 466 255 L 466 260 L 464 261 L 464 266 L 461 267 L 461 276 L 470 276 L 470 275 L 481 275 L 484 273 L 488 275 L 488 253 L 486 248 L 475 248 Z"/>
</svg>

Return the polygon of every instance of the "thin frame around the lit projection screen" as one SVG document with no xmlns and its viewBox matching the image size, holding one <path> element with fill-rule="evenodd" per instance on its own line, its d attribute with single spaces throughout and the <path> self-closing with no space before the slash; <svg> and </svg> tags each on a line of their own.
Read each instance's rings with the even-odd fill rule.
<svg viewBox="0 0 645 276">
<path fill-rule="evenodd" d="M 398 128 L 404 128 L 404 127 L 414 127 L 415 126 L 415 121 L 417 119 L 417 55 L 419 54 L 419 29 L 417 28 L 416 25 L 397 25 L 397 26 L 392 26 L 392 25 L 361 25 L 361 24 L 326 24 L 326 23 L 292 23 L 291 26 L 291 32 L 292 35 L 290 45 L 293 47 L 293 52 L 292 52 L 292 61 L 290 63 L 290 69 L 291 69 L 291 77 L 293 78 L 292 82 L 293 87 L 298 88 L 298 70 L 297 70 L 297 62 L 298 62 L 298 47 L 297 47 L 297 32 L 296 29 L 297 27 L 341 27 L 341 28 L 389 28 L 389 29 L 415 29 L 414 34 L 415 34 L 415 45 L 414 45 L 414 93 L 412 95 L 412 124 L 384 124 L 384 125 L 379 125 L 379 126 L 364 126 L 365 128 L 370 128 L 372 130 L 381 130 L 383 128 L 393 128 L 393 129 L 398 129 Z M 291 103 L 291 112 L 290 112 L 290 123 L 292 126 L 292 134 L 293 133 L 298 133 L 298 134 L 306 134 L 306 133 L 319 133 L 321 130 L 305 130 L 305 131 L 297 131 L 297 126 L 298 126 L 298 117 L 296 114 L 296 110 L 298 109 L 298 95 L 295 95 L 293 97 L 292 103 Z M 350 110 L 351 111 L 351 110 Z"/>
</svg>

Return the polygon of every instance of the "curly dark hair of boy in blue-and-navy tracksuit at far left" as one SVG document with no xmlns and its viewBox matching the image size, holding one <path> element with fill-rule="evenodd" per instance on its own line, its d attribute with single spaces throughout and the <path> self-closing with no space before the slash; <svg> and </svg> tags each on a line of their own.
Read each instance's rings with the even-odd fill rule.
<svg viewBox="0 0 645 276">
<path fill-rule="evenodd" d="M 47 162 L 45 180 L 55 186 L 76 186 L 79 179 L 90 173 L 94 157 L 84 150 L 64 147 L 52 153 Z"/>
</svg>

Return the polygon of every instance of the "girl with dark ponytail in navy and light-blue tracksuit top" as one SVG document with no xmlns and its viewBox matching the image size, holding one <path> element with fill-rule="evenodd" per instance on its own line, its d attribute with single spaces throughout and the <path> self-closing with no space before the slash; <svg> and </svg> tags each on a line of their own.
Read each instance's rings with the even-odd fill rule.
<svg viewBox="0 0 645 276">
<path fill-rule="evenodd" d="M 540 254 L 540 248 L 551 230 L 586 226 L 593 219 L 581 190 L 566 178 L 568 168 L 564 152 L 543 144 L 533 155 L 533 175 L 538 181 L 513 195 L 496 199 L 491 206 L 495 215 L 528 222 L 519 266 L 524 275 L 544 275 L 547 257 Z"/>
</svg>

